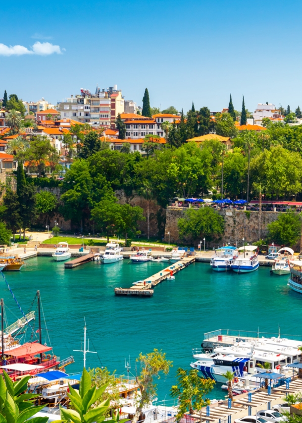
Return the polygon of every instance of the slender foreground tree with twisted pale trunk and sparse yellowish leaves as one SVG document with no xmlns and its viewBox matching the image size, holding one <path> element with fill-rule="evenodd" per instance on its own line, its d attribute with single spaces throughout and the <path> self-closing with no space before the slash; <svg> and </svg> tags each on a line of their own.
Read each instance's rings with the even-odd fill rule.
<svg viewBox="0 0 302 423">
<path fill-rule="evenodd" d="M 151 353 L 140 354 L 136 359 L 140 364 L 140 374 L 136 376 L 136 382 L 140 387 L 141 398 L 137 404 L 132 423 L 138 422 L 143 408 L 150 404 L 152 397 L 156 394 L 154 378 L 160 378 L 160 373 L 168 374 L 172 362 L 166 359 L 166 354 L 154 349 Z"/>
</svg>

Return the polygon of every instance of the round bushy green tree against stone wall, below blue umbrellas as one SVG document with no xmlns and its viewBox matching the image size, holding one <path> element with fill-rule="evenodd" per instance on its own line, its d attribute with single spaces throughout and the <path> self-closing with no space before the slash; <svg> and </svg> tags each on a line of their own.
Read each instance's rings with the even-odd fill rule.
<svg viewBox="0 0 302 423">
<path fill-rule="evenodd" d="M 188 209 L 178 222 L 179 237 L 187 236 L 197 244 L 203 237 L 206 241 L 219 238 L 224 231 L 224 220 L 218 211 L 210 207 Z"/>
</svg>

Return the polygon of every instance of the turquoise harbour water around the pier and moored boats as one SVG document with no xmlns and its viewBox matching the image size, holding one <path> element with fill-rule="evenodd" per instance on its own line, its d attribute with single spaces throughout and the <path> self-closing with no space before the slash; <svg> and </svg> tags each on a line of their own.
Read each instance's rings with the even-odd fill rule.
<svg viewBox="0 0 302 423">
<path fill-rule="evenodd" d="M 90 349 L 98 352 L 98 356 L 87 354 L 87 367 L 102 365 L 125 374 L 124 359 L 130 355 L 134 374 L 140 352 L 153 348 L 166 352 L 173 368 L 158 381 L 158 399 L 169 396 L 176 369 L 189 368 L 191 349 L 201 346 L 204 332 L 219 328 L 278 332 L 280 323 L 283 334 L 301 333 L 302 295 L 289 289 L 287 276 L 271 275 L 268 267 L 237 275 L 212 272 L 209 264 L 195 263 L 177 273 L 175 281 L 156 286 L 152 298 L 114 296 L 115 287 L 130 287 L 164 267 L 124 260 L 64 269 L 64 264 L 39 257 L 27 260 L 20 272 L 5 272 L 5 277 L 24 312 L 37 289 L 41 291 L 54 354 L 61 359 L 75 357 L 67 372 L 83 368 L 83 354 L 73 350 L 81 349 L 84 317 L 93 342 Z M 19 318 L 4 281 L 1 297 Z M 10 311 L 6 311 L 8 323 L 15 321 Z M 211 396 L 222 397 L 221 389 L 215 388 Z"/>
</svg>

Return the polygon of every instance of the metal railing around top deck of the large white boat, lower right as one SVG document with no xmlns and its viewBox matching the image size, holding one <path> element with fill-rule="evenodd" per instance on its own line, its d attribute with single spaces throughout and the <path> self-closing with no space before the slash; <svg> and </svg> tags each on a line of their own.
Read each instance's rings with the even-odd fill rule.
<svg viewBox="0 0 302 423">
<path fill-rule="evenodd" d="M 301 335 L 287 335 L 281 334 L 276 332 L 257 332 L 257 331 L 249 331 L 249 330 L 233 330 L 233 329 L 218 329 L 212 330 L 211 332 L 206 332 L 203 334 L 203 339 L 208 340 L 214 338 L 218 342 L 222 342 L 222 336 L 233 337 L 234 341 L 245 341 L 249 340 L 249 338 L 287 338 L 292 339 L 294 341 L 302 341 Z M 228 342 L 230 340 L 228 339 Z"/>
</svg>

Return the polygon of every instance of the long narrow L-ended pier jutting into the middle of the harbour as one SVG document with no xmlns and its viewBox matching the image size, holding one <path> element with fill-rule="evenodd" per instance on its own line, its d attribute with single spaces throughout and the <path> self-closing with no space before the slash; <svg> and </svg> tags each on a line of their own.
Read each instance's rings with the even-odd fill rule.
<svg viewBox="0 0 302 423">
<path fill-rule="evenodd" d="M 143 296 L 143 297 L 151 297 L 154 293 L 152 289 L 154 286 L 158 285 L 158 283 L 165 280 L 168 276 L 170 276 L 171 272 L 173 274 L 179 272 L 180 270 L 188 267 L 189 264 L 195 262 L 195 257 L 184 257 L 182 260 L 176 263 L 170 264 L 168 267 L 160 270 L 159 272 L 153 274 L 150 277 L 147 277 L 140 283 L 131 286 L 130 288 L 115 288 L 114 294 L 115 295 L 136 295 L 136 296 Z"/>
</svg>

